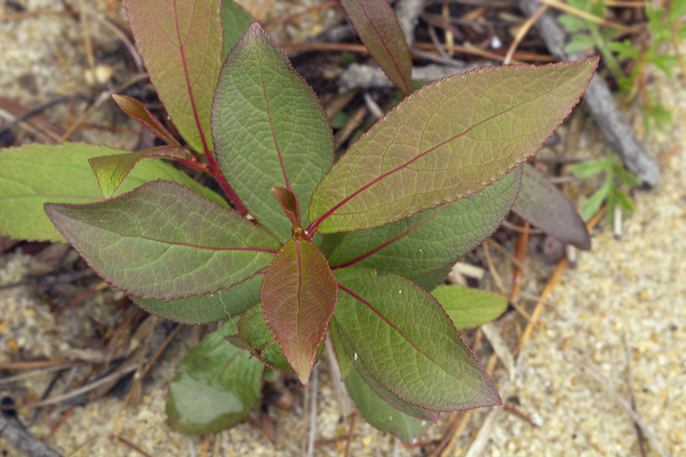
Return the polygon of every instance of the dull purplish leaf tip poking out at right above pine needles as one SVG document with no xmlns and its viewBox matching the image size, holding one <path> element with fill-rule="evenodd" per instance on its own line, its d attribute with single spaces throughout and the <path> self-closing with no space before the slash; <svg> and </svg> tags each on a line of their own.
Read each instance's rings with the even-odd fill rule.
<svg viewBox="0 0 686 457">
<path fill-rule="evenodd" d="M 512 211 L 549 235 L 579 249 L 591 249 L 591 235 L 576 207 L 541 172 L 524 164 L 521 189 Z"/>
</svg>

